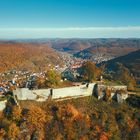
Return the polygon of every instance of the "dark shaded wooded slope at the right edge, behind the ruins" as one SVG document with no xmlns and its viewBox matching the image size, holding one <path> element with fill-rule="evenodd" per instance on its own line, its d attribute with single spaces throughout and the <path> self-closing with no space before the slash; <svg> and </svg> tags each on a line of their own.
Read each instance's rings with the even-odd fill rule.
<svg viewBox="0 0 140 140">
<path fill-rule="evenodd" d="M 108 71 L 116 72 L 116 77 L 119 77 L 119 75 L 121 75 L 120 70 L 123 70 L 123 67 L 125 67 L 125 69 L 129 71 L 131 79 L 133 79 L 132 77 L 134 76 L 137 83 L 140 84 L 140 50 L 112 59 L 105 64 Z M 121 66 L 121 69 L 118 70 L 119 66 Z M 122 77 L 124 75 L 125 73 L 122 73 Z"/>
</svg>

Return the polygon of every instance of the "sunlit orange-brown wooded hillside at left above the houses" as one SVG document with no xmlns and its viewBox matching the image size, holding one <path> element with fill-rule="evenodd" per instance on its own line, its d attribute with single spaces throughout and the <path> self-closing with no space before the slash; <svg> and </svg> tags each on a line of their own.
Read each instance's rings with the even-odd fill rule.
<svg viewBox="0 0 140 140">
<path fill-rule="evenodd" d="M 0 71 L 38 70 L 49 64 L 62 65 L 58 52 L 47 44 L 0 42 Z"/>
</svg>

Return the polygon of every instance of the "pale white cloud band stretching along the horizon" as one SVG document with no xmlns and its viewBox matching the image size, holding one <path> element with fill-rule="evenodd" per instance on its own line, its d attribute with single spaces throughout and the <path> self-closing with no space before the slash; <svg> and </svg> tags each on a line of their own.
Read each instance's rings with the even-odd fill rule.
<svg viewBox="0 0 140 140">
<path fill-rule="evenodd" d="M 0 38 L 140 38 L 140 26 L 0 28 Z"/>
</svg>

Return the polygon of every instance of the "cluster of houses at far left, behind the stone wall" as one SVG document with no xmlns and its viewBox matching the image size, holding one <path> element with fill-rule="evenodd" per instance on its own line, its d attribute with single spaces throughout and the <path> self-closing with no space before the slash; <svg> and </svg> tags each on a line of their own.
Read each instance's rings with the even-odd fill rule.
<svg viewBox="0 0 140 140">
<path fill-rule="evenodd" d="M 16 88 L 28 87 L 36 77 L 44 76 L 44 73 L 32 73 L 28 71 L 10 71 L 0 74 L 0 94 L 12 91 Z"/>
</svg>

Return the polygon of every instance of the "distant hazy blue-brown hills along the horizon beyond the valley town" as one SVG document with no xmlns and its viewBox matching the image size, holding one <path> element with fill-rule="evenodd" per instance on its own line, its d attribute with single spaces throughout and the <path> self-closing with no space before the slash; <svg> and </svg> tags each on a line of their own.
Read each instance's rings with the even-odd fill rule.
<svg viewBox="0 0 140 140">
<path fill-rule="evenodd" d="M 117 57 L 140 48 L 140 39 L 37 39 L 25 41 L 48 43 L 56 50 L 82 58 L 94 56 L 96 52 Z"/>
</svg>

